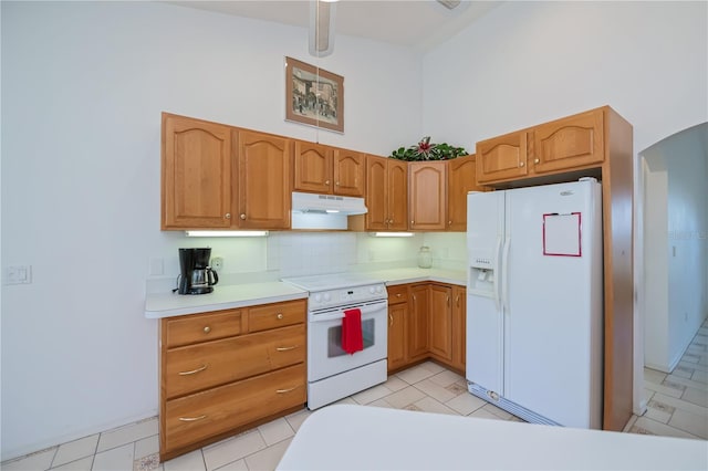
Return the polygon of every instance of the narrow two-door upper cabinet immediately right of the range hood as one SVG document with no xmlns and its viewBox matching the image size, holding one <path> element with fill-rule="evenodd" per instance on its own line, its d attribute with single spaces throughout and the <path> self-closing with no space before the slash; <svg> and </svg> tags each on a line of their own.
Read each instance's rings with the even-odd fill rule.
<svg viewBox="0 0 708 471">
<path fill-rule="evenodd" d="M 408 166 L 406 161 L 366 156 L 366 212 L 368 231 L 408 229 Z"/>
</svg>

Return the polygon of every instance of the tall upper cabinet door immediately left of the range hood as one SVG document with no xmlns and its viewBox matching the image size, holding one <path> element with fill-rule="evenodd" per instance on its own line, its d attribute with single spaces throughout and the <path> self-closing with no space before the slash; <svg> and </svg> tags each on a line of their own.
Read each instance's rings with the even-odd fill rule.
<svg viewBox="0 0 708 471">
<path fill-rule="evenodd" d="M 239 228 L 289 229 L 290 139 L 239 129 Z"/>
</svg>

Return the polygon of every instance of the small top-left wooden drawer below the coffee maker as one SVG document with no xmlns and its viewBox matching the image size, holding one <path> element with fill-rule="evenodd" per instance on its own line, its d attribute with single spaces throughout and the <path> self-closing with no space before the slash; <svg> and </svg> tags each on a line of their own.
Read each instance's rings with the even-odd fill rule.
<svg viewBox="0 0 708 471">
<path fill-rule="evenodd" d="M 241 311 L 217 311 L 163 320 L 165 347 L 216 341 L 241 333 Z"/>
</svg>

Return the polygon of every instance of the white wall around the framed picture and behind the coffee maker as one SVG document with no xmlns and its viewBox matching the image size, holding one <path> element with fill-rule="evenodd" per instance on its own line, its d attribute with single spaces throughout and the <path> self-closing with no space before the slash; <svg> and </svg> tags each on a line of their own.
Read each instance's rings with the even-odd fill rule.
<svg viewBox="0 0 708 471">
<path fill-rule="evenodd" d="M 345 36 L 319 65 L 345 78 L 345 134 L 285 123 L 285 55 L 304 29 L 153 2 L 1 2 L 2 459 L 157 412 L 150 259 L 159 231 L 160 112 L 387 155 L 420 134 L 419 59 Z M 385 132 L 382 132 L 385 129 Z M 215 244 L 263 270 L 264 242 Z M 242 254 L 241 255 L 239 255 Z M 238 262 L 233 263 L 235 260 Z"/>
</svg>

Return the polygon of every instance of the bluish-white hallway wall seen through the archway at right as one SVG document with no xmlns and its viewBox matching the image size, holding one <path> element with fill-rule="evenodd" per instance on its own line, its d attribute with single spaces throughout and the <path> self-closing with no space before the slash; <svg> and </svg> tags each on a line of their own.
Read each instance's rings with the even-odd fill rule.
<svg viewBox="0 0 708 471">
<path fill-rule="evenodd" d="M 708 316 L 707 138 L 702 124 L 642 151 L 649 169 L 645 364 L 667 373 Z"/>
</svg>

